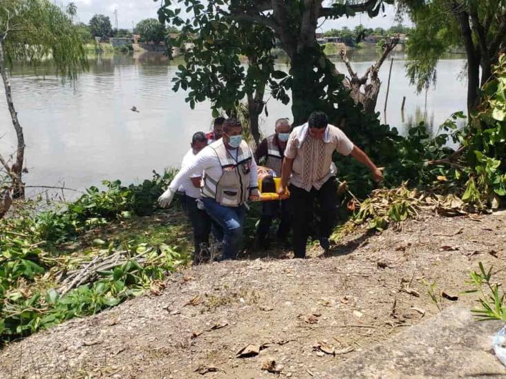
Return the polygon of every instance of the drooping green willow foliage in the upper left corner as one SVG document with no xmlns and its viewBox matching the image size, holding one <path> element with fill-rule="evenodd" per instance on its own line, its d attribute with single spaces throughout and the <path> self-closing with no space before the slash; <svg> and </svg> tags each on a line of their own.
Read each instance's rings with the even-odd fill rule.
<svg viewBox="0 0 506 379">
<path fill-rule="evenodd" d="M 48 58 L 57 75 L 75 79 L 88 67 L 83 36 L 72 20 L 48 0 L 3 0 L 0 35 L 8 62 L 38 66 Z"/>
</svg>

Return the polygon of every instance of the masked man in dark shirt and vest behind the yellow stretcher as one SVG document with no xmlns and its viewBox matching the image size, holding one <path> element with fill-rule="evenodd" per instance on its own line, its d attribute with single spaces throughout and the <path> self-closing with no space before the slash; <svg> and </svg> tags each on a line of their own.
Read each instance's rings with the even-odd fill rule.
<svg viewBox="0 0 506 379">
<path fill-rule="evenodd" d="M 286 142 L 290 137 L 290 122 L 286 118 L 278 119 L 275 125 L 275 133 L 263 139 L 255 151 L 255 159 L 259 164 L 265 158 L 263 166 L 274 171 L 276 176 L 281 176 L 281 163 L 285 153 Z M 281 211 L 281 212 L 280 212 Z M 255 248 L 268 249 L 268 234 L 272 220 L 280 214 L 280 223 L 277 237 L 283 241 L 288 237 L 292 227 L 292 202 L 290 199 L 263 202 L 262 215 L 258 229 L 256 229 Z"/>
</svg>

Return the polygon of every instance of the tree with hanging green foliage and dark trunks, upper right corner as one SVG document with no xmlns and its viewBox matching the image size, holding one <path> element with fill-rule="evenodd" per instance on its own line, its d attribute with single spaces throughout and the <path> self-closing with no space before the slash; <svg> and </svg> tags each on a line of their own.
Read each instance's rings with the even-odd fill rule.
<svg viewBox="0 0 506 379">
<path fill-rule="evenodd" d="M 404 0 L 401 4 L 415 24 L 407 43 L 411 82 L 418 90 L 435 84 L 438 60 L 463 46 L 470 114 L 478 103 L 480 86 L 491 78 L 491 67 L 506 49 L 506 1 Z"/>
</svg>

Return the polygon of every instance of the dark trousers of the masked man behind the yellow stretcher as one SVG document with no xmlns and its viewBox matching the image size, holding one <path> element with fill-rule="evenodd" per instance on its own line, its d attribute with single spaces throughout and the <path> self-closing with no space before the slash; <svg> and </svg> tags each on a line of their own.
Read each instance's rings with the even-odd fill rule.
<svg viewBox="0 0 506 379">
<path fill-rule="evenodd" d="M 279 228 L 277 231 L 278 238 L 288 237 L 290 229 L 292 229 L 292 200 L 278 200 L 272 202 L 264 202 L 262 204 L 262 215 L 260 217 L 259 227 L 256 229 L 256 236 L 260 240 L 264 240 L 269 234 L 272 220 L 276 217 L 280 219 Z"/>
</svg>

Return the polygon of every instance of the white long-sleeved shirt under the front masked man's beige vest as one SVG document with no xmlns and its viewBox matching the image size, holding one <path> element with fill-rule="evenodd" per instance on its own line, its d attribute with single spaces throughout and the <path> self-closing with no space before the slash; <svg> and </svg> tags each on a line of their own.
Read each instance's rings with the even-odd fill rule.
<svg viewBox="0 0 506 379">
<path fill-rule="evenodd" d="M 229 153 L 232 157 L 237 157 L 238 150 L 237 149 L 229 149 Z M 257 166 L 253 154 L 251 154 L 251 171 L 250 171 L 250 188 L 258 187 L 258 173 Z M 176 189 L 184 184 L 185 178 L 189 180 L 192 175 L 200 176 L 205 171 L 205 175 L 209 175 L 211 179 L 214 179 L 216 182 L 221 178 L 223 174 L 223 170 L 221 168 L 220 159 L 218 159 L 218 155 L 213 150 L 213 148 L 206 146 L 203 150 L 200 150 L 200 153 L 194 155 L 194 157 L 190 158 L 189 164 L 183 166 L 181 170 L 178 172 L 178 175 L 174 177 L 169 188 L 176 191 Z"/>
</svg>

